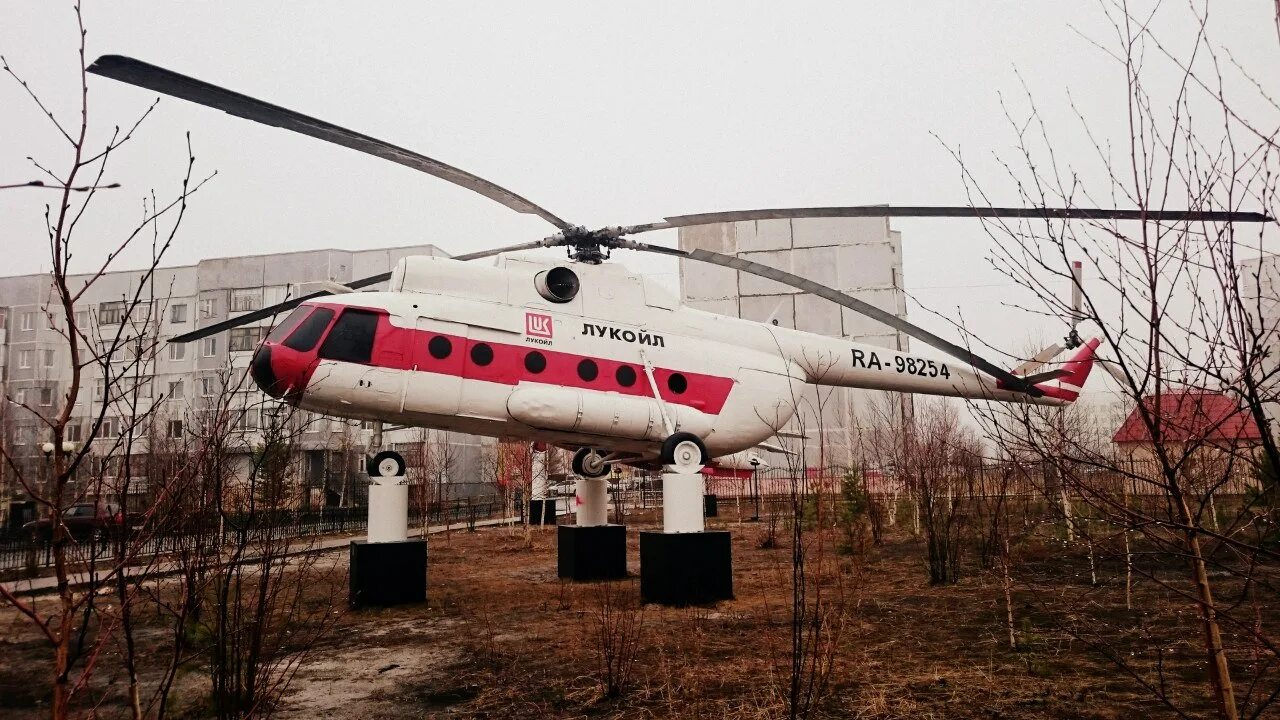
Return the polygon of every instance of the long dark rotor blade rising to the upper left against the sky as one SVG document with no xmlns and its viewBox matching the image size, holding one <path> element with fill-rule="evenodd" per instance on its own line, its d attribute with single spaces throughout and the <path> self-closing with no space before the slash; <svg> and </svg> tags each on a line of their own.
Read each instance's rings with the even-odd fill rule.
<svg viewBox="0 0 1280 720">
<path fill-rule="evenodd" d="M 335 145 L 342 145 L 343 147 L 390 160 L 392 163 L 399 163 L 401 165 L 435 176 L 472 192 L 479 192 L 517 213 L 538 215 L 561 229 L 571 227 L 570 223 L 556 217 L 549 210 L 466 170 L 460 170 L 458 168 L 392 145 L 390 142 L 369 137 L 367 135 L 361 135 L 333 123 L 303 115 L 302 113 L 294 113 L 279 105 L 271 105 L 270 102 L 264 102 L 216 85 L 143 63 L 142 60 L 134 60 L 123 55 L 102 55 L 90 65 L 88 72 L 189 100 L 266 126 L 308 135 Z"/>
</svg>

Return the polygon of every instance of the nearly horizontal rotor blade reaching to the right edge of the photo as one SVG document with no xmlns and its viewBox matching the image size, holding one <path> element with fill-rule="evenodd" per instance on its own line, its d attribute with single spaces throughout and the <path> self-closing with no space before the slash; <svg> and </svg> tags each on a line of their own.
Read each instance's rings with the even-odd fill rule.
<svg viewBox="0 0 1280 720">
<path fill-rule="evenodd" d="M 772 210 L 731 210 L 727 213 L 700 213 L 673 215 L 660 223 L 627 225 L 622 234 L 635 234 L 669 228 L 687 228 L 732 223 L 737 220 L 778 220 L 799 218 L 1028 218 L 1051 220 L 1152 220 L 1152 222 L 1212 222 L 1212 223 L 1266 223 L 1265 213 L 1230 210 L 1121 210 L 1108 208 L 974 208 L 956 206 L 892 206 L 855 205 L 849 208 L 778 208 Z"/>
</svg>

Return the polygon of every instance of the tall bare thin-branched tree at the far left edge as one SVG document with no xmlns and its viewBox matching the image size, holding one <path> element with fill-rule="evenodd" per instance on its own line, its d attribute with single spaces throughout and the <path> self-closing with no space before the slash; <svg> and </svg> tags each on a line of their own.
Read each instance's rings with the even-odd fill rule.
<svg viewBox="0 0 1280 720">
<path fill-rule="evenodd" d="M 29 619 L 50 644 L 54 660 L 51 679 L 54 717 L 68 716 L 73 697 L 86 687 L 101 657 L 99 650 L 115 632 L 115 623 L 104 623 L 97 612 L 95 603 L 97 589 L 102 583 L 120 580 L 133 556 L 133 548 L 123 538 L 116 544 L 116 553 L 111 557 L 109 568 L 97 570 L 97 557 L 91 556 L 90 587 L 83 591 L 77 589 L 72 575 L 77 551 L 82 546 L 70 536 L 64 512 L 77 502 L 86 498 L 97 501 L 104 493 L 113 491 L 119 493 L 123 489 L 123 497 L 129 496 L 128 475 L 124 480 L 125 487 L 106 487 L 106 473 L 101 469 L 114 465 L 123 466 L 125 473 L 133 470 L 134 446 L 142 441 L 141 433 L 147 427 L 148 411 L 142 410 L 136 401 L 142 393 L 140 388 L 145 387 L 140 383 L 143 382 L 145 366 L 156 342 L 155 336 L 150 334 L 154 329 L 155 299 L 159 296 L 155 270 L 182 225 L 188 199 L 205 182 L 192 179 L 195 156 L 189 152 L 188 141 L 187 172 L 174 196 L 168 201 L 157 201 L 155 193 L 147 196 L 142 204 L 141 219 L 124 233 L 115 249 L 101 260 L 90 261 L 83 274 L 78 277 L 73 274 L 73 256 L 79 259 L 93 255 L 88 250 L 76 251 L 79 247 L 79 223 L 90 206 L 97 204 L 100 191 L 115 187 L 114 183 L 104 183 L 110 160 L 133 137 L 155 106 L 142 111 L 132 124 L 123 126 L 124 129 L 116 127 L 105 145 L 91 143 L 86 33 L 78 4 L 74 6 L 74 13 L 79 33 L 78 63 L 73 65 L 78 77 L 79 111 L 74 120 L 59 118 L 49 110 L 36 90 L 10 65 L 9 59 L 0 56 L 5 73 L 19 83 L 31 97 L 35 109 L 49 119 L 51 129 L 65 141 L 67 150 L 67 158 L 60 160 L 63 164 L 60 169 L 52 169 L 58 165 L 45 164 L 41 160 L 32 160 L 32 164 L 44 176 L 40 181 L 42 187 L 58 196 L 56 204 L 44 208 L 47 252 L 52 265 L 49 273 L 51 291 L 42 306 L 42 314 L 51 327 L 58 328 L 64 341 L 70 379 L 56 393 L 56 401 L 49 409 L 44 402 L 29 402 L 6 392 L 5 400 L 15 406 L 15 413 L 35 420 L 33 436 L 38 438 L 32 437 L 32 439 L 42 439 L 49 448 L 47 461 L 44 468 L 37 469 L 42 471 L 32 473 L 31 465 L 13 454 L 12 446 L 0 448 L 3 461 L 12 471 L 14 482 L 36 501 L 51 523 L 54 574 L 58 582 L 55 607 L 47 612 L 42 611 L 33 603 L 19 600 L 5 585 L 0 585 L 0 597 Z M 77 315 L 77 305 L 84 301 L 95 283 L 115 265 L 120 252 L 148 241 L 151 247 L 147 266 L 137 273 L 136 282 L 116 305 L 127 322 L 115 324 L 114 332 L 95 333 L 91 327 L 104 325 L 86 324 L 82 316 Z M 84 389 L 83 370 L 90 364 L 96 364 L 105 375 L 104 397 L 83 428 L 82 439 L 70 441 L 68 427 Z M 129 398 L 134 402 L 131 404 Z M 128 414 L 113 415 L 122 410 L 122 404 Z M 76 483 L 82 471 L 91 475 L 90 482 Z M 116 589 L 120 601 L 127 603 L 132 592 L 119 583 Z M 128 623 L 127 609 L 120 618 Z M 96 635 L 91 629 L 96 629 Z M 131 667 L 131 683 L 134 682 L 136 674 Z"/>
</svg>

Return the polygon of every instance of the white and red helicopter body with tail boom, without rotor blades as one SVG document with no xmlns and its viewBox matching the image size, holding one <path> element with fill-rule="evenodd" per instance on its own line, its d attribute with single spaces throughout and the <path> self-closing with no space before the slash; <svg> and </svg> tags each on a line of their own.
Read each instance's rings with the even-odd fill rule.
<svg viewBox="0 0 1280 720">
<path fill-rule="evenodd" d="M 415 256 L 385 292 L 308 301 L 253 360 L 255 380 L 344 418 L 538 439 L 653 459 L 673 432 L 712 457 L 786 425 L 806 384 L 1062 404 L 1002 389 L 955 361 L 685 307 L 618 264 L 570 264 L 568 300 L 539 278 L 564 266 Z M 1083 383 L 1083 378 L 1079 378 Z"/>
</svg>

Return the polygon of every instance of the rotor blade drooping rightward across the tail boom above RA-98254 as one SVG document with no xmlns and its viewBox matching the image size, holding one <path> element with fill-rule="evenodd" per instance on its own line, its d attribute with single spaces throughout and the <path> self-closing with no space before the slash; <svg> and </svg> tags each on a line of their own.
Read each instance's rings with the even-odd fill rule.
<svg viewBox="0 0 1280 720">
<path fill-rule="evenodd" d="M 906 320 L 899 318 L 897 315 L 886 313 L 884 310 L 881 310 L 879 307 L 876 307 L 869 302 L 864 302 L 861 300 L 858 300 L 856 297 L 845 295 L 838 290 L 832 290 L 824 284 L 818 284 L 810 279 L 801 278 L 800 275 L 794 275 L 791 273 L 778 270 L 777 268 L 769 268 L 768 265 L 760 265 L 759 263 L 753 263 L 750 260 L 744 260 L 741 258 L 721 255 L 719 252 L 712 252 L 709 250 L 690 250 L 689 252 L 685 254 L 685 256 L 689 258 L 690 260 L 700 260 L 703 263 L 722 265 L 724 268 L 733 268 L 735 270 L 741 270 L 744 273 L 751 273 L 753 275 L 759 275 L 762 278 L 768 278 L 773 282 L 788 284 L 796 290 L 801 290 L 810 295 L 817 295 L 818 297 L 826 297 L 827 300 L 835 302 L 836 305 L 842 305 L 855 313 L 867 315 L 873 320 L 879 320 L 881 323 L 884 323 L 886 325 L 899 332 L 909 334 L 915 340 L 924 342 L 925 345 L 936 347 L 946 352 L 947 355 L 951 355 L 952 357 L 968 363 L 969 365 L 998 379 L 1002 383 L 1004 388 L 1006 389 L 1025 392 L 1032 397 L 1039 397 L 1044 395 L 1042 389 L 1037 388 L 1033 384 L 1027 383 L 1024 379 L 1014 375 L 1012 373 L 1001 368 L 1000 365 L 983 360 L 982 357 L 978 357 L 973 352 L 969 352 L 968 350 L 960 347 L 959 345 L 955 345 L 954 342 L 942 340 L 941 337 L 931 333 L 929 331 L 919 325 L 913 325 L 911 323 L 908 323 Z"/>
</svg>

